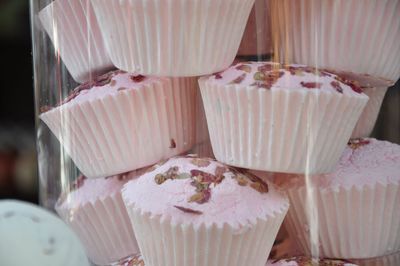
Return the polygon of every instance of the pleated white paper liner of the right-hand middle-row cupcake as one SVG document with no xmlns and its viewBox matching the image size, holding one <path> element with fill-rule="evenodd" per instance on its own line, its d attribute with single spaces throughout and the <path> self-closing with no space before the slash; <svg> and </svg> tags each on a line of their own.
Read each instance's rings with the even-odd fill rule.
<svg viewBox="0 0 400 266">
<path fill-rule="evenodd" d="M 318 90 L 199 83 L 215 157 L 270 172 L 333 170 L 368 100 Z"/>
</svg>

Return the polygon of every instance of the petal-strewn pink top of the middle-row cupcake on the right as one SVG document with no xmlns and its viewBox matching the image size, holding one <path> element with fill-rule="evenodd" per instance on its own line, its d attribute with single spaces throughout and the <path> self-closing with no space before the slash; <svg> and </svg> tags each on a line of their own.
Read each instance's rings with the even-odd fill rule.
<svg viewBox="0 0 400 266">
<path fill-rule="evenodd" d="M 304 65 L 273 62 L 243 62 L 211 75 L 208 82 L 219 85 L 239 84 L 265 89 L 319 89 L 345 95 L 364 96 L 357 83 L 325 70 Z"/>
</svg>

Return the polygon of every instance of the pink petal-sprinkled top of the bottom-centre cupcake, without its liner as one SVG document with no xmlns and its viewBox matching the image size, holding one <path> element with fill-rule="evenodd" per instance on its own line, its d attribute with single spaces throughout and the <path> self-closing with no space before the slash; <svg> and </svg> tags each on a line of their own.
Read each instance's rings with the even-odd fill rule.
<svg viewBox="0 0 400 266">
<path fill-rule="evenodd" d="M 128 182 L 125 202 L 174 223 L 230 224 L 236 229 L 274 212 L 286 212 L 287 198 L 271 184 L 213 159 L 176 157 Z"/>
</svg>

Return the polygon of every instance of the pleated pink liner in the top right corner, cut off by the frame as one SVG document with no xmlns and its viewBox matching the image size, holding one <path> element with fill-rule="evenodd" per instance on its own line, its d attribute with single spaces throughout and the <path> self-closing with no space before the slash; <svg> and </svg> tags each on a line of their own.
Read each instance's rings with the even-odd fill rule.
<svg viewBox="0 0 400 266">
<path fill-rule="evenodd" d="M 397 0 L 270 0 L 276 60 L 400 77 Z"/>
</svg>

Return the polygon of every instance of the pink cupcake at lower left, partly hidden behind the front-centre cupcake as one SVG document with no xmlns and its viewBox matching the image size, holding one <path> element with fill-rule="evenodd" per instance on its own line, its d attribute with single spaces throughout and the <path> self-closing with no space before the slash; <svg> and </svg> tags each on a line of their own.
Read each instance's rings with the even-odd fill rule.
<svg viewBox="0 0 400 266">
<path fill-rule="evenodd" d="M 107 178 L 80 176 L 55 209 L 81 239 L 96 265 L 122 263 L 139 253 L 121 189 L 145 169 Z"/>
</svg>

